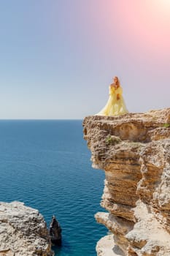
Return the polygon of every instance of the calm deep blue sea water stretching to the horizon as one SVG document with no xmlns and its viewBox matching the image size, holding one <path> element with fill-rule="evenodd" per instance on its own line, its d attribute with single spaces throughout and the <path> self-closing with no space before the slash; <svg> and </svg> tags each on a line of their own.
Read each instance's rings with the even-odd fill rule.
<svg viewBox="0 0 170 256">
<path fill-rule="evenodd" d="M 55 255 L 96 255 L 107 234 L 93 217 L 104 211 L 104 172 L 91 167 L 82 120 L 1 120 L 0 177 L 0 201 L 39 209 L 47 225 L 55 214 L 63 235 Z"/>
</svg>

